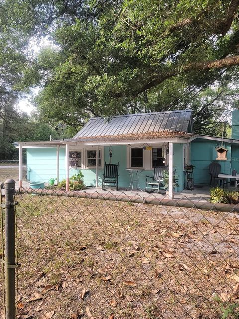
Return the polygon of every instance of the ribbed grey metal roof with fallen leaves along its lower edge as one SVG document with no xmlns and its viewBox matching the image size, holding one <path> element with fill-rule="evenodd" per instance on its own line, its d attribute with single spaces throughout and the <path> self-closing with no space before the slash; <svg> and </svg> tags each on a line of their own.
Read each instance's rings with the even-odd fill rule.
<svg viewBox="0 0 239 319">
<path fill-rule="evenodd" d="M 74 136 L 74 139 L 136 134 L 149 135 L 155 132 L 160 132 L 162 135 L 193 133 L 192 111 L 126 114 L 114 116 L 110 119 L 92 118 Z"/>
</svg>

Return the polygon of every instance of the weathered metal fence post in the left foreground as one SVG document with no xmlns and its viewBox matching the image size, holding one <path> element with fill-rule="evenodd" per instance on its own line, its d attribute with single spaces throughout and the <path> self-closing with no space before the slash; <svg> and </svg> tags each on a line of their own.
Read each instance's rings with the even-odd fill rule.
<svg viewBox="0 0 239 319">
<path fill-rule="evenodd" d="M 16 286 L 15 286 L 15 181 L 7 179 L 5 188 L 5 292 L 6 319 L 16 318 Z"/>
</svg>

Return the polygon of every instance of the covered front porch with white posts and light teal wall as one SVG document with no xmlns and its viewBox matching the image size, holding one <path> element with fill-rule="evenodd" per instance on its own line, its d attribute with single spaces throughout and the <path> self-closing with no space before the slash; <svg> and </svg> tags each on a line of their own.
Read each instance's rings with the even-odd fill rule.
<svg viewBox="0 0 239 319">
<path fill-rule="evenodd" d="M 182 191 L 184 188 L 183 169 L 187 155 L 187 149 L 184 146 L 187 142 L 188 139 L 182 137 L 120 142 L 99 141 L 98 143 L 75 140 L 23 142 L 19 144 L 19 180 L 21 184 L 22 148 L 27 148 L 27 167 L 30 175 L 28 180 L 30 181 L 47 183 L 54 177 L 58 183 L 65 179 L 68 191 L 70 177 L 81 171 L 84 175 L 84 184 L 89 187 L 88 189 L 90 187 L 98 189 L 102 184 L 104 162 L 112 164 L 119 162 L 119 189 L 134 190 L 136 184 L 132 185 L 131 181 L 137 179 L 138 189 L 141 192 L 145 188 L 145 176 L 153 176 L 155 166 L 165 165 L 169 172 L 168 195 L 172 198 L 174 170 L 179 176 L 179 187 L 175 190 Z"/>
</svg>

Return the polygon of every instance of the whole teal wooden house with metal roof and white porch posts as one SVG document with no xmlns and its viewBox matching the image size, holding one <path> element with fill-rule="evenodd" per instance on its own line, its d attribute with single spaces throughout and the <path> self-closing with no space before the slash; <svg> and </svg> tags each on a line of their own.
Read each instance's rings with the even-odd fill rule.
<svg viewBox="0 0 239 319">
<path fill-rule="evenodd" d="M 166 165 L 170 195 L 175 169 L 179 176 L 175 190 L 184 189 L 187 164 L 195 166 L 194 183 L 199 185 L 209 184 L 208 166 L 213 161 L 220 162 L 222 173 L 239 170 L 238 125 L 238 110 L 233 111 L 232 139 L 195 134 L 191 110 L 92 118 L 71 139 L 19 143 L 20 162 L 26 148 L 28 180 L 66 179 L 68 189 L 69 178 L 79 171 L 86 186 L 100 187 L 105 162 L 119 162 L 119 189 L 128 188 L 130 170 L 140 171 L 139 186 L 144 189 L 145 175 L 152 175 L 155 166 Z M 226 160 L 217 159 L 220 146 L 227 150 Z"/>
</svg>

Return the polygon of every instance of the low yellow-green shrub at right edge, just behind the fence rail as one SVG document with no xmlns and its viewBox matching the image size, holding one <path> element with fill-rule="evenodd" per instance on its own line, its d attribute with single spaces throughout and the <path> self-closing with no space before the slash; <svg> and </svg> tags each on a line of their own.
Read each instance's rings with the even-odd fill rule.
<svg viewBox="0 0 239 319">
<path fill-rule="evenodd" d="M 223 188 L 215 187 L 210 189 L 211 203 L 238 204 L 239 192 L 229 191 Z"/>
</svg>

